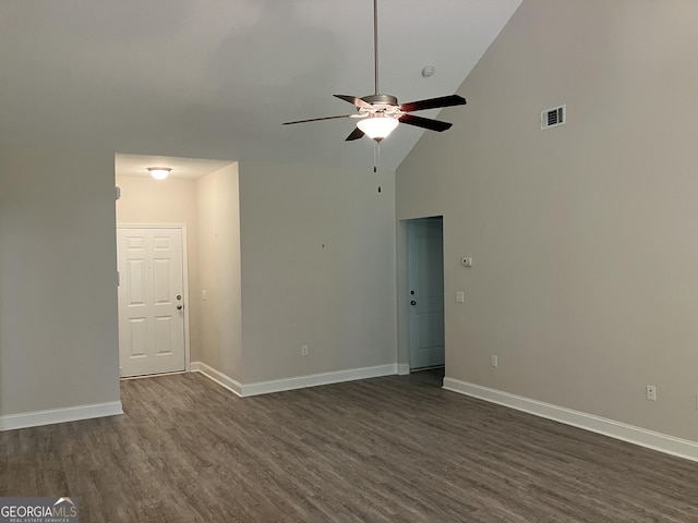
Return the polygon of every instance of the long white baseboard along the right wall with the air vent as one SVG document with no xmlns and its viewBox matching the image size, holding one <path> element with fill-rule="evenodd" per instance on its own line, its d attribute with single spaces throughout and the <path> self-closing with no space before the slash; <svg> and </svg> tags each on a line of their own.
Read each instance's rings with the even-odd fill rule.
<svg viewBox="0 0 698 523">
<path fill-rule="evenodd" d="M 647 447 L 648 449 L 676 455 L 686 460 L 698 461 L 698 442 L 655 433 L 646 428 L 627 425 L 605 417 L 574 411 L 564 406 L 543 403 L 521 396 L 512 394 L 497 389 L 469 384 L 455 378 L 444 378 L 444 389 L 471 396 L 498 405 L 516 409 L 539 417 L 571 425 L 611 438 Z"/>
</svg>

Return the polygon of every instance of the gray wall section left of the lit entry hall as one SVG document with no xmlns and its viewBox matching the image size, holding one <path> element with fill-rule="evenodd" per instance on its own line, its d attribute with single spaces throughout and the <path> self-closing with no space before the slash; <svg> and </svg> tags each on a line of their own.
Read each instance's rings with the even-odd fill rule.
<svg viewBox="0 0 698 523">
<path fill-rule="evenodd" d="M 113 154 L 0 146 L 0 415 L 119 401 Z"/>
</svg>

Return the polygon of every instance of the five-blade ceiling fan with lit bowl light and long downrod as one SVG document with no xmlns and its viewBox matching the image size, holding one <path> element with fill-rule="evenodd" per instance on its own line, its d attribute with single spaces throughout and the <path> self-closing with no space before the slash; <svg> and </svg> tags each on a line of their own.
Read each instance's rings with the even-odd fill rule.
<svg viewBox="0 0 698 523">
<path fill-rule="evenodd" d="M 320 120 L 334 120 L 338 118 L 357 118 L 360 119 L 349 136 L 347 142 L 359 139 L 363 135 L 381 143 L 387 137 L 399 123 L 414 125 L 428 129 L 430 131 L 446 131 L 453 125 L 448 122 L 433 120 L 430 118 L 416 117 L 410 114 L 414 111 L 423 111 L 426 109 L 437 109 L 442 107 L 462 106 L 466 99 L 458 95 L 442 96 L 440 98 L 430 98 L 426 100 L 410 101 L 407 104 L 398 104 L 397 98 L 393 95 L 383 95 L 378 89 L 378 1 L 373 0 L 373 59 L 375 69 L 375 93 L 373 95 L 363 96 L 361 98 L 349 95 L 334 95 L 337 98 L 352 104 L 357 108 L 357 112 L 351 114 L 340 114 L 337 117 L 312 118 L 309 120 L 297 120 L 294 122 L 285 122 L 284 125 L 294 123 L 317 122 Z"/>
</svg>

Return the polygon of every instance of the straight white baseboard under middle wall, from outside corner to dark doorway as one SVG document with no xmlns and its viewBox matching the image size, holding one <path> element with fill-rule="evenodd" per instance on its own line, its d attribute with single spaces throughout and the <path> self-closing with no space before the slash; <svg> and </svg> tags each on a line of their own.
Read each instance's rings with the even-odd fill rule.
<svg viewBox="0 0 698 523">
<path fill-rule="evenodd" d="M 380 376 L 393 376 L 397 374 L 397 364 L 378 365 L 375 367 L 349 368 L 334 373 L 311 374 L 294 378 L 274 379 L 270 381 L 257 381 L 242 386 L 242 396 L 268 394 L 284 390 L 304 389 L 318 385 L 340 384 L 357 379 L 377 378 Z"/>
</svg>

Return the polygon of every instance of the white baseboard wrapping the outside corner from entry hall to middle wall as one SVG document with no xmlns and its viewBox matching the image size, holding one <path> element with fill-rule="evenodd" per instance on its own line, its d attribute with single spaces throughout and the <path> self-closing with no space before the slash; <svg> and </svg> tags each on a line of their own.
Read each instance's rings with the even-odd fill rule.
<svg viewBox="0 0 698 523">
<path fill-rule="evenodd" d="M 192 362 L 193 373 L 201 373 L 218 385 L 234 392 L 241 398 L 250 396 L 269 394 L 272 392 L 282 392 L 285 390 L 304 389 L 318 385 L 340 384 L 342 381 L 353 381 L 357 379 L 377 378 L 380 376 L 393 376 L 398 374 L 396 364 L 378 365 L 375 367 L 350 368 L 334 373 L 311 374 L 308 376 L 297 376 L 293 378 L 274 379 L 270 381 L 257 381 L 253 384 L 240 384 L 229 376 L 209 367 L 203 362 Z"/>
</svg>

